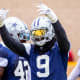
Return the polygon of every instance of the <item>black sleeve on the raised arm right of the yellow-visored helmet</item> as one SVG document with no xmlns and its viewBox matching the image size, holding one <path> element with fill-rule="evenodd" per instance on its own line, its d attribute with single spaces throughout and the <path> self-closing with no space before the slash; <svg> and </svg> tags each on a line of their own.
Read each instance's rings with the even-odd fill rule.
<svg viewBox="0 0 80 80">
<path fill-rule="evenodd" d="M 68 53 L 70 48 L 70 43 L 68 41 L 66 32 L 64 31 L 59 20 L 56 23 L 52 23 L 52 25 L 55 30 L 57 42 L 58 42 L 61 53 Z"/>
</svg>

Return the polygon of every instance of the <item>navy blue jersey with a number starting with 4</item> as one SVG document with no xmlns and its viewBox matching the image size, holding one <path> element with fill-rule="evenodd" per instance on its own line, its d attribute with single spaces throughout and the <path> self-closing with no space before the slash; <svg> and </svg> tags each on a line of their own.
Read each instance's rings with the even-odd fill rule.
<svg viewBox="0 0 80 80">
<path fill-rule="evenodd" d="M 0 44 L 0 57 L 8 60 L 2 80 L 30 80 L 29 64 L 26 59 L 19 57 L 11 50 Z"/>
</svg>

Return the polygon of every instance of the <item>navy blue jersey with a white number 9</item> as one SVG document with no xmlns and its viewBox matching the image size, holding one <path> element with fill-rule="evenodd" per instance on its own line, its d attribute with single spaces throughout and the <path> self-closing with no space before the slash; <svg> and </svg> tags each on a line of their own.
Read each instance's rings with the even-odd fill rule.
<svg viewBox="0 0 80 80">
<path fill-rule="evenodd" d="M 34 50 L 34 45 L 29 51 L 32 80 L 67 80 L 68 54 L 60 52 L 57 42 L 42 55 Z"/>
</svg>

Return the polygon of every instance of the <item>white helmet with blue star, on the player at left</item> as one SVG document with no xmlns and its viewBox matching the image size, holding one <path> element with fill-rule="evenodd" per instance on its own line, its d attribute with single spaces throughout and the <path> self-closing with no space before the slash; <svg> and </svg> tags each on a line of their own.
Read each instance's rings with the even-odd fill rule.
<svg viewBox="0 0 80 80">
<path fill-rule="evenodd" d="M 30 34 L 27 25 L 16 17 L 8 17 L 4 20 L 4 24 L 9 34 L 16 40 L 29 40 Z"/>
</svg>

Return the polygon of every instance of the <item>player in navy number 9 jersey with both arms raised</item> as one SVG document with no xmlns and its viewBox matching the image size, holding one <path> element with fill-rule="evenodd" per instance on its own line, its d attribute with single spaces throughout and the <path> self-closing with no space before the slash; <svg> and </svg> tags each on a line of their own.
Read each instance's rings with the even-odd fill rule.
<svg viewBox="0 0 80 80">
<path fill-rule="evenodd" d="M 40 16 L 31 25 L 33 44 L 16 42 L 8 34 L 1 16 L 0 32 L 4 43 L 15 53 L 29 55 L 32 80 L 67 80 L 70 43 L 56 14 L 45 4 L 38 6 Z M 4 37 L 4 35 L 6 35 Z M 14 42 L 13 42 L 14 41 Z"/>
</svg>

